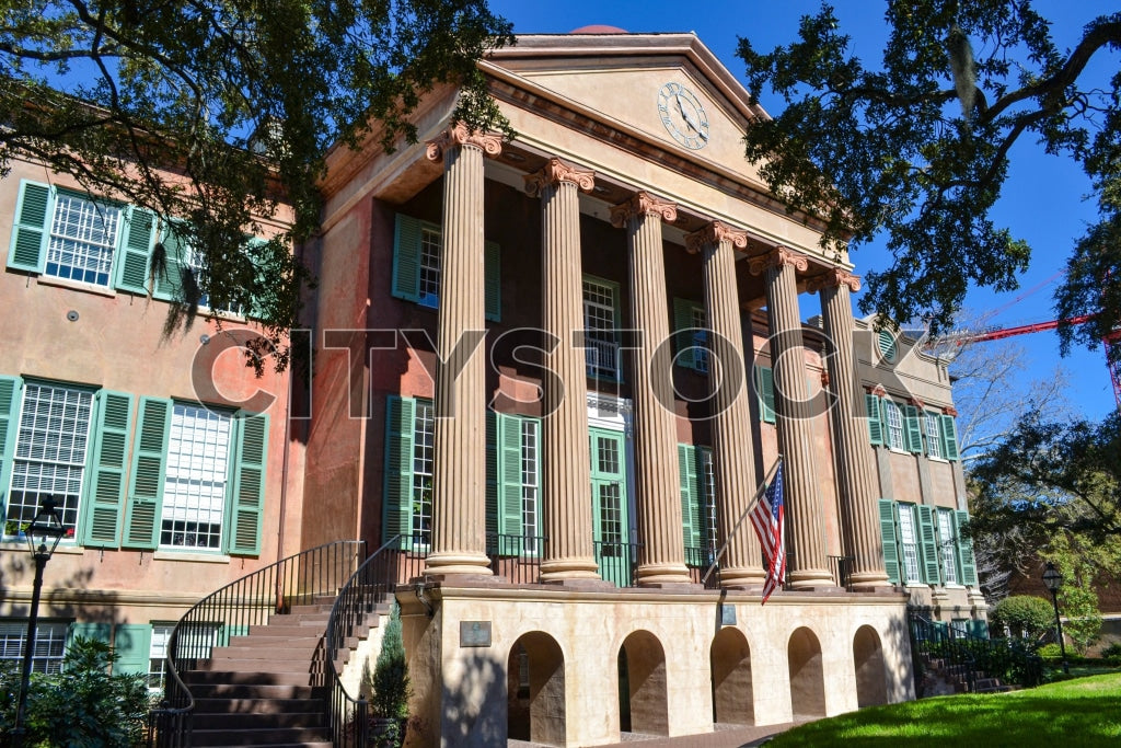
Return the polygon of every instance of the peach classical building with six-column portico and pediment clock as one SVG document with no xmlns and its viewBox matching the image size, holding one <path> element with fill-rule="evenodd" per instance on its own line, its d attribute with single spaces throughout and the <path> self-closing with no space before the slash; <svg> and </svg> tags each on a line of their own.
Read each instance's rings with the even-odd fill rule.
<svg viewBox="0 0 1121 748">
<path fill-rule="evenodd" d="M 29 598 L 11 535 L 55 493 L 50 652 L 93 632 L 128 668 L 282 556 L 402 553 L 416 745 L 914 698 L 908 606 L 984 618 L 944 363 L 853 318 L 847 256 L 744 160 L 767 114 L 695 36 L 522 36 L 481 66 L 512 140 L 452 121 L 448 85 L 421 142 L 330 157 L 307 419 L 212 329 L 160 338 L 142 213 L 34 165 L 0 182 L 0 652 Z M 779 455 L 788 574 L 761 606 L 744 514 Z"/>
</svg>

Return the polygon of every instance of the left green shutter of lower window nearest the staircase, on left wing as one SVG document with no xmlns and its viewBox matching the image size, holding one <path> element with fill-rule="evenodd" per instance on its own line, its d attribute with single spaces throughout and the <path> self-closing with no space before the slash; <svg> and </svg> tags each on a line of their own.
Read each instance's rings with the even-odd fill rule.
<svg viewBox="0 0 1121 748">
<path fill-rule="evenodd" d="M 172 401 L 141 397 L 139 412 L 140 421 L 132 449 L 132 484 L 121 545 L 155 551 L 159 545 Z"/>
</svg>

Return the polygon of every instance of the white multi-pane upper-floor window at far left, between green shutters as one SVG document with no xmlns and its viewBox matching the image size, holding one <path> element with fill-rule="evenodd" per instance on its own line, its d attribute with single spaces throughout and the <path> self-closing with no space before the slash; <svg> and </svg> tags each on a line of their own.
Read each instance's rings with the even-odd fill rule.
<svg viewBox="0 0 1121 748">
<path fill-rule="evenodd" d="M 117 207 L 59 192 L 50 220 L 46 274 L 108 287 L 120 218 Z"/>
</svg>

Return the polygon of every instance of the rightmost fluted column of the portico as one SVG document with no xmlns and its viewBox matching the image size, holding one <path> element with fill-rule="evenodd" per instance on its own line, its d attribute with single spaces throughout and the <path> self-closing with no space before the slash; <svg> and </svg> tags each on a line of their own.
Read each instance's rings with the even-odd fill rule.
<svg viewBox="0 0 1121 748">
<path fill-rule="evenodd" d="M 825 335 L 833 350 L 826 359 L 833 407 L 833 465 L 841 498 L 841 537 L 846 556 L 852 557 L 849 582 L 856 590 L 890 587 L 883 569 L 876 462 L 864 425 L 864 390 L 852 334 L 852 298 L 860 278 L 842 268 L 832 268 L 814 278 L 808 288 L 822 296 Z"/>
</svg>

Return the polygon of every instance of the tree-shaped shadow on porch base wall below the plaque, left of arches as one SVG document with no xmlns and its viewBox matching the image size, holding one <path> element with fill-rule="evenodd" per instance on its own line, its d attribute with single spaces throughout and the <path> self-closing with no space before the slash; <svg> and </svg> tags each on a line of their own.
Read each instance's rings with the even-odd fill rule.
<svg viewBox="0 0 1121 748">
<path fill-rule="evenodd" d="M 493 649 L 473 649 L 463 658 L 455 687 L 443 686 L 442 738 L 451 746 L 506 745 L 507 680 Z"/>
</svg>

